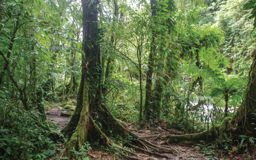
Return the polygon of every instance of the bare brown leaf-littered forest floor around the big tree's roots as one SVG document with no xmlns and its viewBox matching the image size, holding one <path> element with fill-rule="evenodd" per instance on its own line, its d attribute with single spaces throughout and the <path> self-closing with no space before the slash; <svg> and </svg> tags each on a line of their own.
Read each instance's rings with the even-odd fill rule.
<svg viewBox="0 0 256 160">
<path fill-rule="evenodd" d="M 46 116 L 47 119 L 55 122 L 60 129 L 66 126 L 69 122 L 70 117 L 63 117 L 60 116 L 61 112 L 63 112 L 62 109 L 58 107 L 58 104 L 52 107 L 51 110 L 46 111 Z M 203 156 L 203 151 L 202 150 L 194 150 L 193 148 L 195 146 L 192 145 L 178 145 L 178 144 L 161 144 L 164 141 L 161 141 L 161 139 L 158 137 L 160 135 L 162 136 L 167 136 L 169 134 L 173 134 L 171 132 L 177 132 L 177 131 L 171 131 L 169 132 L 168 130 L 165 130 L 164 127 L 160 126 L 146 126 L 143 130 L 138 130 L 139 125 L 137 123 L 125 123 L 126 128 L 130 131 L 132 131 L 134 134 L 137 136 L 140 136 L 141 138 L 156 144 L 156 145 L 166 145 L 166 146 L 171 146 L 173 149 L 176 149 L 180 154 L 164 154 L 169 158 L 169 160 L 206 160 L 208 159 L 207 156 Z M 111 139 L 110 139 L 111 140 Z M 62 146 L 64 148 L 64 146 Z M 60 149 L 62 149 L 60 147 Z M 114 160 L 115 156 L 113 153 L 106 153 L 105 151 L 102 150 L 92 150 L 88 152 L 88 155 L 91 156 L 92 160 Z M 148 156 L 146 154 L 138 154 L 137 155 L 139 159 L 141 160 L 167 160 L 166 158 L 163 157 L 157 157 L 157 156 Z M 124 158 L 125 159 L 125 158 Z M 221 159 L 221 157 L 220 157 Z M 246 157 L 235 157 L 231 156 L 228 159 L 240 159 L 240 160 L 251 160 L 252 158 L 246 159 Z"/>
</svg>

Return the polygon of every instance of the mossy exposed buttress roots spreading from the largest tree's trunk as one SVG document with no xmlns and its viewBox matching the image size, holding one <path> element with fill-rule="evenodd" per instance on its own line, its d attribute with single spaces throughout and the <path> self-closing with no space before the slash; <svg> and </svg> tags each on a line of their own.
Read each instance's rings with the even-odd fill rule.
<svg viewBox="0 0 256 160">
<path fill-rule="evenodd" d="M 83 109 L 84 108 L 85 107 L 83 107 Z M 89 119 L 88 119 L 89 122 L 87 123 L 89 127 L 86 135 L 88 141 L 93 142 L 93 141 L 100 140 L 100 143 L 103 144 L 105 147 L 107 148 L 113 147 L 113 145 L 108 140 L 108 137 L 104 134 L 104 132 L 108 133 L 108 130 L 112 130 L 112 134 L 119 135 L 123 138 L 124 145 L 133 147 L 138 152 L 143 152 L 148 155 L 162 156 L 165 158 L 170 158 L 170 157 L 159 154 L 159 153 L 171 153 L 171 154 L 178 153 L 177 150 L 169 146 L 166 147 L 166 146 L 152 144 L 146 141 L 145 139 L 143 139 L 142 137 L 139 137 L 134 133 L 132 133 L 131 131 L 129 131 L 128 129 L 124 128 L 124 126 L 122 126 L 118 122 L 118 120 L 111 114 L 111 112 L 105 106 L 102 106 L 102 110 L 98 111 L 98 114 L 102 115 L 101 116 L 102 119 L 97 119 L 97 120 L 100 120 L 99 122 L 101 124 L 104 124 L 104 122 L 107 122 L 107 123 L 104 124 L 104 127 L 101 130 L 99 126 L 93 121 L 93 118 L 89 115 Z M 82 118 L 83 116 L 81 114 L 80 119 Z M 77 125 L 76 132 L 73 133 L 61 157 L 68 156 L 69 150 L 73 149 L 73 147 L 75 147 L 75 149 L 78 149 L 81 147 L 81 145 L 83 145 L 82 141 L 84 140 L 81 141 L 82 139 L 81 136 L 85 136 L 84 134 L 85 132 L 84 130 L 82 130 L 82 128 L 85 128 L 86 126 L 84 126 L 85 125 L 84 121 L 81 121 L 81 120 L 79 121 L 78 124 L 80 125 Z M 79 128 L 80 126 L 81 128 Z M 161 138 L 159 137 L 159 134 L 156 136 L 156 138 L 157 137 Z M 128 140 L 124 140 L 124 139 L 128 139 Z M 78 148 L 76 146 L 78 146 Z M 119 149 L 117 149 L 117 151 L 118 150 Z M 129 159 L 139 159 L 137 157 L 134 157 L 134 155 L 136 156 L 137 153 L 133 153 L 127 150 L 126 152 L 129 154 L 132 154 L 133 156 L 123 155 L 124 157 Z"/>
</svg>

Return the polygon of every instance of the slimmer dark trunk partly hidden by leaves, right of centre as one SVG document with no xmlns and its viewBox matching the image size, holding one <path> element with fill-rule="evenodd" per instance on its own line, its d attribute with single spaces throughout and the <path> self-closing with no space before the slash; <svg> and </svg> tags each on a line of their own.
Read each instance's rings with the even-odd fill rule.
<svg viewBox="0 0 256 160">
<path fill-rule="evenodd" d="M 150 0 L 150 9 L 153 17 L 156 16 L 156 0 Z M 152 103 L 152 75 L 154 68 L 154 60 L 155 60 L 155 51 L 156 51 L 156 33 L 152 32 L 152 42 L 150 47 L 150 52 L 148 55 L 148 71 L 146 75 L 146 97 L 145 97 L 145 105 L 144 105 L 144 113 L 145 118 L 148 120 L 150 118 L 151 110 L 150 104 Z"/>
</svg>

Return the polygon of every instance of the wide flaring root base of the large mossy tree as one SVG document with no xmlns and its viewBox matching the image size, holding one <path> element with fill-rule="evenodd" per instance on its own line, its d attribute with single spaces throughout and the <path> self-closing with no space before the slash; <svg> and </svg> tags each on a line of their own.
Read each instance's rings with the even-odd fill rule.
<svg viewBox="0 0 256 160">
<path fill-rule="evenodd" d="M 120 155 L 126 157 L 128 159 L 140 159 L 138 158 L 139 153 L 158 156 L 164 158 L 171 158 L 169 156 L 164 155 L 163 153 L 171 153 L 178 154 L 179 152 L 176 149 L 173 149 L 171 146 L 163 146 L 152 144 L 149 141 L 135 135 L 128 129 L 124 128 L 124 126 L 111 114 L 107 107 L 102 106 L 101 110 L 98 111 L 99 115 L 102 115 L 101 118 L 95 118 L 97 120 L 93 120 L 92 116 L 89 116 L 88 123 L 88 133 L 86 135 L 86 141 L 99 142 L 100 145 L 104 145 L 106 148 L 112 148 L 115 152 L 119 152 Z M 97 123 L 104 124 L 100 128 Z M 105 122 L 105 123 L 104 123 Z M 72 122 L 69 122 L 72 124 Z M 79 149 L 83 145 L 81 141 L 81 137 L 85 136 L 83 130 L 78 129 L 79 126 L 84 126 L 82 122 L 79 121 L 78 127 L 76 127 L 76 132 L 74 132 L 69 139 L 66 148 L 59 159 L 63 156 L 71 156 L 71 150 L 73 148 Z M 109 131 L 112 131 L 111 134 Z M 67 128 L 64 128 L 62 131 L 67 132 Z M 107 133 L 107 135 L 105 134 Z M 122 138 L 122 144 L 126 146 L 126 148 L 116 148 L 108 139 L 108 136 L 114 137 L 119 135 Z M 84 141 L 85 142 L 85 141 Z M 123 147 L 124 147 L 123 146 Z"/>
</svg>

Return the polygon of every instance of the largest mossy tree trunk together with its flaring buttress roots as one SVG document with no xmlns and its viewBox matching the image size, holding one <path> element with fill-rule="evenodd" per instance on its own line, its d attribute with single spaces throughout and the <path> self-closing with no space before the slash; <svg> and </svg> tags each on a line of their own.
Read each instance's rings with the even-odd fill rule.
<svg viewBox="0 0 256 160">
<path fill-rule="evenodd" d="M 101 104 L 101 68 L 100 68 L 100 49 L 97 42 L 100 41 L 97 17 L 97 5 L 99 1 L 82 0 L 83 8 L 83 51 L 82 54 L 82 75 L 81 83 L 77 95 L 76 109 L 70 118 L 69 123 L 62 130 L 69 140 L 62 155 L 68 155 L 71 149 L 78 149 L 84 145 L 85 141 L 96 140 L 100 144 L 110 147 L 111 143 L 108 137 L 102 133 L 97 122 L 104 124 L 103 131 L 119 135 L 122 138 L 132 136 L 131 143 L 140 146 L 147 146 L 150 149 L 163 149 L 174 153 L 174 149 L 154 145 L 122 126 L 116 118 L 113 117 L 107 107 Z M 90 44 L 90 45 L 89 45 Z M 141 46 L 140 46 L 141 47 Z M 141 55 L 141 50 L 140 50 Z M 141 57 L 141 56 L 140 56 Z M 142 74 L 142 72 L 141 72 Z M 94 110 L 96 110 L 94 112 Z M 99 116 L 98 116 L 99 115 Z M 97 118 L 100 117 L 100 118 Z M 94 122 L 94 119 L 96 122 Z M 75 132 L 74 132 L 75 128 Z M 128 144 L 129 146 L 130 143 Z M 113 148 L 112 148 L 113 149 Z M 118 149 L 119 151 L 119 149 Z M 145 153 L 159 155 L 157 153 L 146 151 Z M 176 153 L 176 152 L 175 152 Z M 138 158 L 137 158 L 138 159 Z"/>
</svg>

